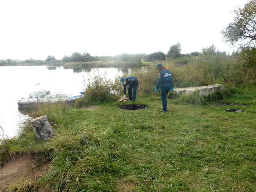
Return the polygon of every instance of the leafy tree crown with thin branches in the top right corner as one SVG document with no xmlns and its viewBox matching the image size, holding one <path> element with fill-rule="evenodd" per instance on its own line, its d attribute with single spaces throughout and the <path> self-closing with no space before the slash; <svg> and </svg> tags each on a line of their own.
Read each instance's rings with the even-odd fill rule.
<svg viewBox="0 0 256 192">
<path fill-rule="evenodd" d="M 255 46 L 256 43 L 256 0 L 249 3 L 237 11 L 233 23 L 221 31 L 223 40 L 231 45 L 239 41 L 246 41 L 247 46 Z"/>
</svg>

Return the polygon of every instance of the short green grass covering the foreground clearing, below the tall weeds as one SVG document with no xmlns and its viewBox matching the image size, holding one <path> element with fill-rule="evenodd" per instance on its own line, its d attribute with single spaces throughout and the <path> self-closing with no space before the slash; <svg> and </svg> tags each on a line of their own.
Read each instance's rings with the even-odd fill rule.
<svg viewBox="0 0 256 192">
<path fill-rule="evenodd" d="M 55 191 L 255 191 L 255 94 L 255 87 L 237 89 L 218 101 L 252 106 L 168 99 L 168 113 L 159 112 L 157 93 L 138 97 L 134 103 L 149 108 L 136 111 L 119 109 L 128 104 L 121 102 L 48 108 L 55 136 L 38 142 L 28 125 L 3 142 L 1 155 L 44 152 L 53 167 L 39 182 Z"/>
</svg>

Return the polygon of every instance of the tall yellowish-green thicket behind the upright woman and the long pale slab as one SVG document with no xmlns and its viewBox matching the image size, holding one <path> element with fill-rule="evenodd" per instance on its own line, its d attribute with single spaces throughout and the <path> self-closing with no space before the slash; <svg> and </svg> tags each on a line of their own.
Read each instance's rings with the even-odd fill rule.
<svg viewBox="0 0 256 192">
<path fill-rule="evenodd" d="M 146 71 L 134 70 L 127 75 L 134 75 L 141 80 L 140 94 L 153 92 L 157 83 L 155 66 L 162 62 L 171 71 L 174 88 L 223 84 L 234 88 L 239 85 L 254 85 L 254 69 L 243 70 L 242 64 L 234 57 L 200 56 L 193 57 L 187 65 L 177 65 L 172 61 L 155 61 Z"/>
</svg>

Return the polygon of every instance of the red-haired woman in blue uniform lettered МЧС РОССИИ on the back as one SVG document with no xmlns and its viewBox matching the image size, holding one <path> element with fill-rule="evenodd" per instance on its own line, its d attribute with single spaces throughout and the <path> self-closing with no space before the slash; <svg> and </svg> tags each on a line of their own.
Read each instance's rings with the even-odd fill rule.
<svg viewBox="0 0 256 192">
<path fill-rule="evenodd" d="M 167 94 L 170 90 L 173 90 L 173 79 L 171 77 L 171 71 L 167 70 L 162 63 L 157 64 L 156 70 L 158 71 L 158 81 L 155 91 L 160 87 L 161 99 L 163 103 L 163 110 L 161 112 L 167 112 Z"/>
</svg>

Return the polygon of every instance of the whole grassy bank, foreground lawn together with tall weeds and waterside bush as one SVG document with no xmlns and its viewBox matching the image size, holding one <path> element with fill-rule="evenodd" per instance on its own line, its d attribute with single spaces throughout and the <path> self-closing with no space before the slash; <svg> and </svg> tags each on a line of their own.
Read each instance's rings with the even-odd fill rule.
<svg viewBox="0 0 256 192">
<path fill-rule="evenodd" d="M 174 88 L 216 83 L 226 89 L 209 98 L 170 93 L 169 112 L 161 113 L 160 93 L 154 92 L 156 63 L 123 74 L 139 79 L 133 103 L 117 102 L 122 95 L 119 78 L 111 82 L 95 76 L 85 87 L 85 99 L 74 107 L 45 105 L 33 111 L 33 117 L 47 115 L 54 137 L 38 142 L 28 122 L 18 137 L 1 140 L 1 163 L 30 153 L 47 158 L 50 169 L 40 179 L 21 178 L 9 191 L 255 191 L 253 70 L 216 57 L 187 65 L 163 61 Z M 119 109 L 131 103 L 149 107 Z M 86 109 L 90 105 L 98 108 Z"/>
</svg>

